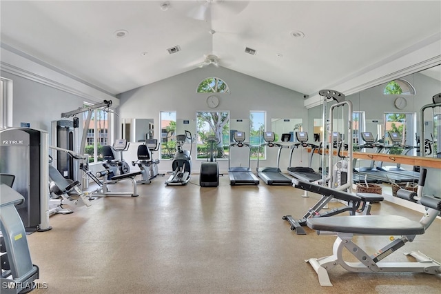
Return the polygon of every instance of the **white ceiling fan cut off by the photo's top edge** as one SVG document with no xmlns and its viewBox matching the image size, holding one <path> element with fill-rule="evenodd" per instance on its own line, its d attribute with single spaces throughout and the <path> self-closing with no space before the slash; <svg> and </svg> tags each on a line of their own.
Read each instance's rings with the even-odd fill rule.
<svg viewBox="0 0 441 294">
<path fill-rule="evenodd" d="M 225 14 L 238 14 L 244 10 L 249 1 L 227 1 L 227 0 L 196 0 L 198 6 L 192 8 L 187 14 L 192 19 L 206 21 L 212 17 L 225 17 Z M 216 8 L 216 9 L 214 9 Z"/>
</svg>

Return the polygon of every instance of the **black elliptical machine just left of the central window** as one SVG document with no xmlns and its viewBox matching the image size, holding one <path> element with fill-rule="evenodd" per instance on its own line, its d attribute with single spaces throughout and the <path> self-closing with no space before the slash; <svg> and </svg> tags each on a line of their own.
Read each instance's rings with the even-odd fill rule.
<svg viewBox="0 0 441 294">
<path fill-rule="evenodd" d="M 190 150 L 183 150 L 182 146 L 190 140 Z M 185 130 L 185 135 L 176 135 L 176 153 L 174 154 L 172 175 L 165 181 L 165 185 L 185 185 L 190 180 L 192 172 L 192 133 Z"/>
</svg>

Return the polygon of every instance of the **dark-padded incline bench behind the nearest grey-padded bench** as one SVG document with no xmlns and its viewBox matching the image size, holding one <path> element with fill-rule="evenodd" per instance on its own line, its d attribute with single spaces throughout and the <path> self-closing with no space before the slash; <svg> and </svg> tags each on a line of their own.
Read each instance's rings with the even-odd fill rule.
<svg viewBox="0 0 441 294">
<path fill-rule="evenodd" d="M 302 226 L 307 225 L 307 219 L 312 217 L 330 217 L 332 215 L 338 215 L 349 211 L 350 215 L 356 215 L 358 208 L 361 205 L 361 213 L 363 215 L 369 215 L 371 211 L 372 202 L 380 202 L 384 199 L 381 195 L 373 193 L 357 193 L 353 195 L 345 191 L 336 190 L 327 186 L 320 186 L 318 184 L 301 181 L 300 179 L 292 179 L 293 186 L 309 192 L 321 194 L 322 197 L 318 202 L 307 210 L 307 213 L 303 215 L 302 219 L 294 219 L 292 215 L 283 216 L 283 220 L 287 220 L 291 224 L 291 230 L 296 231 L 297 235 L 306 235 L 305 229 Z M 327 206 L 332 199 L 338 199 L 343 202 L 347 202 L 347 205 L 340 208 L 334 208 L 325 213 L 320 213 L 320 210 Z"/>
</svg>

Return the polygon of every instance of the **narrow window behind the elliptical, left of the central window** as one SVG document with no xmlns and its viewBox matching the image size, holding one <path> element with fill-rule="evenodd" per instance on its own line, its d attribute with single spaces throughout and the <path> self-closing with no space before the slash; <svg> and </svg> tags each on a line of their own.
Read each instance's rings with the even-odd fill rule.
<svg viewBox="0 0 441 294">
<path fill-rule="evenodd" d="M 172 159 L 176 153 L 176 111 L 161 112 L 161 159 Z"/>
</svg>

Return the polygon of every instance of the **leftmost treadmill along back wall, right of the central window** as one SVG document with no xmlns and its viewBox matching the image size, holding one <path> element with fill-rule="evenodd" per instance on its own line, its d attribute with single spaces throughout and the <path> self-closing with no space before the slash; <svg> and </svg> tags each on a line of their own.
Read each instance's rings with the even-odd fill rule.
<svg viewBox="0 0 441 294">
<path fill-rule="evenodd" d="M 228 175 L 229 175 L 229 184 L 231 186 L 234 185 L 258 185 L 259 179 L 252 173 L 251 170 L 251 146 L 245 141 L 245 133 L 244 132 L 235 132 L 233 135 L 234 143 L 229 144 L 228 148 Z M 230 165 L 230 156 L 232 147 L 247 147 L 248 148 L 248 166 L 236 166 L 232 167 Z"/>
</svg>

